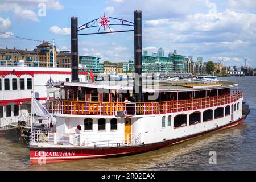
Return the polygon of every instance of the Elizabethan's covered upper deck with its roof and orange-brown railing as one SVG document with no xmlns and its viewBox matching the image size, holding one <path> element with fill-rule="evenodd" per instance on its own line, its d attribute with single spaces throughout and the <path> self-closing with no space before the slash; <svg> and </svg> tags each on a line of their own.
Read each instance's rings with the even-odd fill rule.
<svg viewBox="0 0 256 182">
<path fill-rule="evenodd" d="M 144 102 L 136 102 L 132 89 L 122 84 L 61 84 L 59 100 L 48 100 L 47 109 L 53 114 L 68 115 L 151 115 L 205 109 L 236 102 L 242 90 L 230 90 L 237 84 L 218 82 L 159 82 L 143 87 Z M 54 97 L 53 97 L 54 98 Z"/>
</svg>

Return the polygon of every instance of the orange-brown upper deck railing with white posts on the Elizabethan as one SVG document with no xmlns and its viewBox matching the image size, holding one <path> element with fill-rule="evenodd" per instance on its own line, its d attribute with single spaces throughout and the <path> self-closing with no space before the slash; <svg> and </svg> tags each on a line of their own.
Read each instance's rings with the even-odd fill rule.
<svg viewBox="0 0 256 182">
<path fill-rule="evenodd" d="M 49 113 L 70 115 L 115 116 L 117 115 L 117 111 L 125 111 L 127 115 L 150 115 L 221 106 L 236 102 L 242 97 L 242 90 L 231 90 L 230 94 L 223 96 L 164 102 L 128 103 L 49 100 L 47 101 L 47 109 Z"/>
</svg>

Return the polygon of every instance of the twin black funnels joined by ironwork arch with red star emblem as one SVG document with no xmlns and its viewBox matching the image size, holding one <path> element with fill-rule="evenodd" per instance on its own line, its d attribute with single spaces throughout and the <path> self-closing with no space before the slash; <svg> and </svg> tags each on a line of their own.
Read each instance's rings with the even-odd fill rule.
<svg viewBox="0 0 256 182">
<path fill-rule="evenodd" d="M 96 24 L 98 21 L 98 24 Z M 114 23 L 111 23 L 111 22 Z M 105 13 L 101 18 L 94 19 L 88 23 L 82 24 L 82 26 L 78 26 L 78 18 L 71 18 L 71 79 L 72 82 L 78 82 L 78 36 L 79 35 L 93 35 L 93 34 L 111 34 L 117 32 L 131 32 L 134 31 L 134 71 L 135 71 L 135 80 L 134 80 L 134 98 L 138 102 L 143 101 L 142 94 L 142 11 L 135 10 L 134 11 L 134 22 L 130 22 L 128 20 L 114 18 L 105 16 Z M 100 32 L 100 28 L 104 27 L 104 32 Z M 121 30 L 121 31 L 112 31 L 112 26 L 127 26 L 134 27 L 133 30 Z M 80 31 L 99 27 L 97 32 L 79 34 Z M 105 27 L 109 28 L 108 32 L 105 32 Z"/>
</svg>

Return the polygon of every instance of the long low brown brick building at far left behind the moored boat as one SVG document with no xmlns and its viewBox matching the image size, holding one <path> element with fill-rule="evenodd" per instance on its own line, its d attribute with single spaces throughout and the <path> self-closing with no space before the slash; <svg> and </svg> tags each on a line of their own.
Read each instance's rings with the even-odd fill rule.
<svg viewBox="0 0 256 182">
<path fill-rule="evenodd" d="M 38 54 L 36 51 L 29 51 L 27 48 L 24 50 L 16 49 L 9 49 L 6 47 L 5 49 L 0 48 L 0 65 L 7 65 L 7 66 L 15 66 L 18 65 L 20 60 L 24 60 L 24 64 L 27 67 L 34 67 L 38 66 Z"/>
</svg>

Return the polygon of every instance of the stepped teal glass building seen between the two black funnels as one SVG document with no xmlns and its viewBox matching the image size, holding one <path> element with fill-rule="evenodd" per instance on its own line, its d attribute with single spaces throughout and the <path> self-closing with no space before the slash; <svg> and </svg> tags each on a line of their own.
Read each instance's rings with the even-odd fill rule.
<svg viewBox="0 0 256 182">
<path fill-rule="evenodd" d="M 79 64 L 86 65 L 87 72 L 104 73 L 104 64 L 100 63 L 100 57 L 79 56 Z"/>
</svg>

